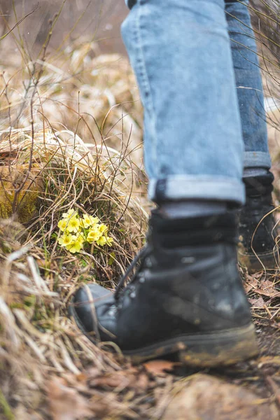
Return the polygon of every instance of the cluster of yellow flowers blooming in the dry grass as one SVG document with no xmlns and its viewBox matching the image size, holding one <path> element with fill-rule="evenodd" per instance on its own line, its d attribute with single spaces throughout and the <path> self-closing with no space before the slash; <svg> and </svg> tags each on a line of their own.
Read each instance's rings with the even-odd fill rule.
<svg viewBox="0 0 280 420">
<path fill-rule="evenodd" d="M 80 217 L 78 211 L 70 209 L 62 214 L 57 226 L 63 232 L 58 239 L 59 245 L 71 253 L 80 252 L 85 244 L 99 246 L 113 244 L 113 238 L 108 236 L 108 226 L 101 223 L 98 217 L 88 214 Z"/>
</svg>

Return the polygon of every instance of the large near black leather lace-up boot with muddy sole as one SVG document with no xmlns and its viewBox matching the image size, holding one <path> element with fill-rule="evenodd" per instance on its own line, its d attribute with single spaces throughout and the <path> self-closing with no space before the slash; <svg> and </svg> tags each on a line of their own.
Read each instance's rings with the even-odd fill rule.
<svg viewBox="0 0 280 420">
<path fill-rule="evenodd" d="M 134 362 L 178 353 L 198 366 L 255 356 L 257 344 L 239 277 L 232 214 L 169 220 L 153 212 L 132 280 L 115 293 L 95 283 L 74 295 L 70 314 L 93 342 L 115 342 Z"/>
</svg>

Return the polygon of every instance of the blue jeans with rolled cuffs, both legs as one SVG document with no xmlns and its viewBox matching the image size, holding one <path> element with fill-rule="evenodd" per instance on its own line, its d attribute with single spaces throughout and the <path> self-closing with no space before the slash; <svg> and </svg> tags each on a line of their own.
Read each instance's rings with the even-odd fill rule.
<svg viewBox="0 0 280 420">
<path fill-rule="evenodd" d="M 271 165 L 247 7 L 129 1 L 122 34 L 144 104 L 149 197 L 243 204 L 244 167 Z"/>
</svg>

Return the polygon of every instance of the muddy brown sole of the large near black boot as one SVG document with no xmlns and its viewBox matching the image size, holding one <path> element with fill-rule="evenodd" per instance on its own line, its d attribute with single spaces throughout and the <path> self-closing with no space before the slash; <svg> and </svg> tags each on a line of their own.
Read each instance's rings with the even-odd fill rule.
<svg viewBox="0 0 280 420">
<path fill-rule="evenodd" d="M 83 334 L 91 342 L 97 344 L 97 340 L 85 331 L 78 316 L 76 316 L 75 309 L 71 306 L 69 307 L 69 314 Z M 197 367 L 225 366 L 234 365 L 257 356 L 258 344 L 253 324 L 250 324 L 245 327 L 208 334 L 181 335 L 141 349 L 123 351 L 123 355 L 129 357 L 132 363 L 136 364 L 172 353 L 175 353 L 184 365 Z"/>
</svg>

